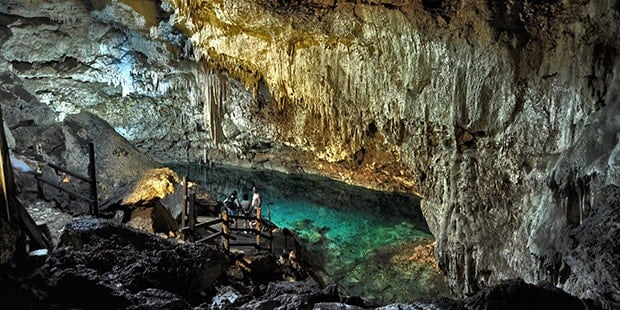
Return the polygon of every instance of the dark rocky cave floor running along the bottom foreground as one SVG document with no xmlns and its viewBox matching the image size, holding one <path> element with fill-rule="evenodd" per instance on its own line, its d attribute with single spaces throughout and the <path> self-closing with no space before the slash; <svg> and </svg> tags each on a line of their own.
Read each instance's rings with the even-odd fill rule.
<svg viewBox="0 0 620 310">
<path fill-rule="evenodd" d="M 17 261 L 14 261 L 16 263 Z M 0 292 L 14 309 L 365 309 L 359 297 L 311 278 L 283 281 L 272 255 L 230 256 L 219 246 L 180 243 L 111 220 L 78 217 L 47 259 L 2 267 Z M 507 281 L 461 299 L 380 309 L 583 309 L 550 285 Z"/>
</svg>

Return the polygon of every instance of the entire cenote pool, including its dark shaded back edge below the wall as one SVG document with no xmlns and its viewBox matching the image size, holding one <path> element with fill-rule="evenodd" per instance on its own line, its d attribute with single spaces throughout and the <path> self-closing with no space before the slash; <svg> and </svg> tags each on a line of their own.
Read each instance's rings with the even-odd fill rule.
<svg viewBox="0 0 620 310">
<path fill-rule="evenodd" d="M 314 175 L 217 165 L 170 165 L 220 200 L 256 185 L 263 213 L 298 233 L 313 263 L 341 292 L 376 304 L 449 296 L 433 236 L 411 194 L 386 193 Z"/>
</svg>

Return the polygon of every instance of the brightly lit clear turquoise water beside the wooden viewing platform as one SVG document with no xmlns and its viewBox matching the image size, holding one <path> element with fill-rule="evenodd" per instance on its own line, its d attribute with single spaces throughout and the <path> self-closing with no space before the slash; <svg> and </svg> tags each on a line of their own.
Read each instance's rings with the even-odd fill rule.
<svg viewBox="0 0 620 310">
<path fill-rule="evenodd" d="M 296 231 L 309 256 L 320 257 L 325 273 L 346 294 L 377 305 L 448 295 L 441 274 L 429 264 L 393 262 L 403 254 L 401 246 L 434 241 L 432 235 L 402 219 L 302 201 L 275 201 L 270 209 L 272 221 Z"/>
</svg>

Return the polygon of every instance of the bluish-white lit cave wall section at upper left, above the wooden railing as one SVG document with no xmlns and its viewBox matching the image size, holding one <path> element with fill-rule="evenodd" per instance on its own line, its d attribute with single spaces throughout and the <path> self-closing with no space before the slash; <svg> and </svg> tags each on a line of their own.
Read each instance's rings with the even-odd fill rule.
<svg viewBox="0 0 620 310">
<path fill-rule="evenodd" d="M 88 111 L 158 160 L 198 156 L 213 145 L 200 85 L 215 74 L 193 60 L 166 8 L 154 1 L 3 1 L 0 70 L 16 73 L 27 88 L 18 95 L 36 96 L 57 121 Z"/>
</svg>

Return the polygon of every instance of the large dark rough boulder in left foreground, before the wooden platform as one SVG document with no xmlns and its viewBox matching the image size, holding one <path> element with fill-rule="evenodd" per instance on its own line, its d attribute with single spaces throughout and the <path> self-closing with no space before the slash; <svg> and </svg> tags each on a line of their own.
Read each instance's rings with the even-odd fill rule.
<svg viewBox="0 0 620 310">
<path fill-rule="evenodd" d="M 82 217 L 66 227 L 29 285 L 39 302 L 60 308 L 189 309 L 205 301 L 228 264 L 213 245 L 178 244 Z"/>
</svg>

